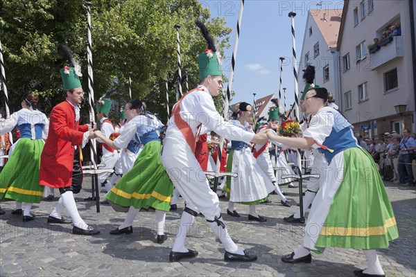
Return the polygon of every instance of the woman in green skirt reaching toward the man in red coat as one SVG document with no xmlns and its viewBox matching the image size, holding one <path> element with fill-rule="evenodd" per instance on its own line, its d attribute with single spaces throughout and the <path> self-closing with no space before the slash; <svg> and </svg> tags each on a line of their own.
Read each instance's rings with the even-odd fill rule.
<svg viewBox="0 0 416 277">
<path fill-rule="evenodd" d="M 130 149 L 135 145 L 144 145 L 133 167 L 117 182 L 105 196 L 115 211 L 127 211 L 123 224 L 110 231 L 112 235 L 132 233 L 132 222 L 141 208 L 155 209 L 157 222 L 157 243 L 162 244 L 166 211 L 171 207 L 173 184 L 160 161 L 162 144 L 159 130 L 163 127 L 156 116 L 146 111 L 141 100 L 131 100 L 125 105 L 125 123 L 121 135 L 114 141 L 107 139 L 101 132 L 96 135 L 110 147 L 119 150 Z"/>
</svg>

